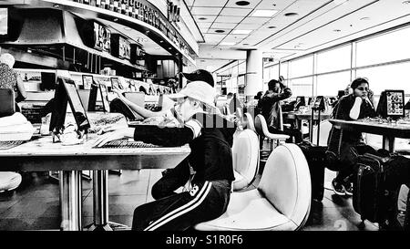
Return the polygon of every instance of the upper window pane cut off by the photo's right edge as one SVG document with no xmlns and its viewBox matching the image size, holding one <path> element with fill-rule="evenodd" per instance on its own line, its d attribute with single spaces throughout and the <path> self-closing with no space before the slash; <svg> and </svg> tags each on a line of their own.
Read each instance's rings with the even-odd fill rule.
<svg viewBox="0 0 410 249">
<path fill-rule="evenodd" d="M 406 27 L 357 42 L 356 66 L 410 58 L 410 28 Z"/>
</svg>

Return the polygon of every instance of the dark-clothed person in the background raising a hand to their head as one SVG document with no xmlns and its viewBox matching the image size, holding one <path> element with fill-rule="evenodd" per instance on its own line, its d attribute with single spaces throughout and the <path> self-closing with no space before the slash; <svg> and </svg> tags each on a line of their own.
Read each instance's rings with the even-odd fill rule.
<svg viewBox="0 0 410 249">
<path fill-rule="evenodd" d="M 282 128 L 282 109 L 280 101 L 292 96 L 292 90 L 285 87 L 280 81 L 272 79 L 268 82 L 268 90 L 259 100 L 257 109 L 266 119 L 268 130 L 271 133 L 286 134 L 291 136 L 288 142 L 302 141 L 302 132 L 294 128 Z M 282 130 L 283 129 L 283 130 Z"/>
</svg>

